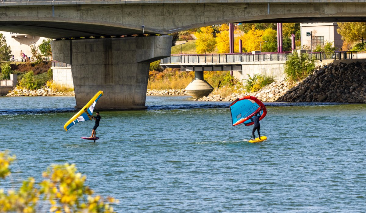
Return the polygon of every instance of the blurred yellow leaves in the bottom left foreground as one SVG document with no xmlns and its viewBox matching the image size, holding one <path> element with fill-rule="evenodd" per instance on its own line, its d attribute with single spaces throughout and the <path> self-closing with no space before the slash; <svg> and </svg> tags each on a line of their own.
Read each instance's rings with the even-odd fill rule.
<svg viewBox="0 0 366 213">
<path fill-rule="evenodd" d="M 11 174 L 9 165 L 15 156 L 0 152 L 0 179 Z M 115 213 L 111 206 L 118 200 L 93 196 L 94 192 L 85 186 L 86 176 L 76 173 L 75 165 L 53 165 L 43 173 L 45 178 L 36 187 L 33 177 L 23 181 L 19 190 L 0 188 L 0 212 L 35 213 L 40 196 L 48 199 L 50 212 L 55 213 Z M 38 185 L 38 184 L 37 184 Z"/>
</svg>

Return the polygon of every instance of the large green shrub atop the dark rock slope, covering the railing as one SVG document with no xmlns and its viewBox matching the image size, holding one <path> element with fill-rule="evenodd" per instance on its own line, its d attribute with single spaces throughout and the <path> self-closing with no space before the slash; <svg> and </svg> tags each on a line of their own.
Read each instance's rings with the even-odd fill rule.
<svg viewBox="0 0 366 213">
<path fill-rule="evenodd" d="M 315 59 L 309 58 L 309 54 L 299 55 L 294 52 L 285 63 L 284 73 L 289 81 L 299 81 L 309 76 L 315 69 Z"/>
</svg>

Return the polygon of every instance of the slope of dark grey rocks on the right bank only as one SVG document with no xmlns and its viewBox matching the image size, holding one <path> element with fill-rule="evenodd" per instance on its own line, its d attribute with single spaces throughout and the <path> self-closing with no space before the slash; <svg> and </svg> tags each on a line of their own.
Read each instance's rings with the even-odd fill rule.
<svg viewBox="0 0 366 213">
<path fill-rule="evenodd" d="M 314 70 L 280 102 L 366 103 L 366 62 L 332 63 Z"/>
</svg>

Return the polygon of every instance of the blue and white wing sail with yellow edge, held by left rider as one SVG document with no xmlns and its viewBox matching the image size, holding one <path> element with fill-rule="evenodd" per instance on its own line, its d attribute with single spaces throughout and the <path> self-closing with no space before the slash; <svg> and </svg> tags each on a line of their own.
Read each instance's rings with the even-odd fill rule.
<svg viewBox="0 0 366 213">
<path fill-rule="evenodd" d="M 93 114 L 94 107 L 97 104 L 98 99 L 100 96 L 104 95 L 103 91 L 97 92 L 92 99 L 70 120 L 66 122 L 64 125 L 64 129 L 67 131 L 72 125 L 77 124 L 82 121 L 91 121 L 91 115 Z"/>
</svg>

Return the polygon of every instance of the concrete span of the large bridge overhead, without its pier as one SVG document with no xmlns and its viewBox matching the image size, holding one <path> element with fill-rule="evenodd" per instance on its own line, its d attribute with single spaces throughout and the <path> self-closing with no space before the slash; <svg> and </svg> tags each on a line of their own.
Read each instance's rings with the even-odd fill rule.
<svg viewBox="0 0 366 213">
<path fill-rule="evenodd" d="M 130 1 L 129 1 L 130 2 Z M 180 1 L 179 1 L 180 2 Z M 49 38 L 168 34 L 197 27 L 239 22 L 363 22 L 366 4 L 326 3 L 151 3 L 96 5 L 86 1 L 4 6 L 0 30 Z M 24 5 L 22 5 L 24 4 Z M 42 5 L 44 4 L 44 5 Z M 144 28 L 142 29 L 142 26 Z"/>
</svg>

